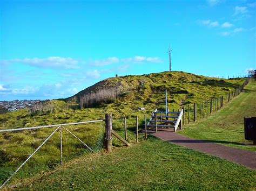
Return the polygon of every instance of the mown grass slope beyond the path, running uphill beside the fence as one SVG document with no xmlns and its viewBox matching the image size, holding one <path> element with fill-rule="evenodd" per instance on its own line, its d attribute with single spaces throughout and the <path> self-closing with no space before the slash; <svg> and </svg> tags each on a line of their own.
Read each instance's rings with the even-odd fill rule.
<svg viewBox="0 0 256 191">
<path fill-rule="evenodd" d="M 256 81 L 251 80 L 244 91 L 223 109 L 197 123 L 185 125 L 184 130 L 179 133 L 195 139 L 256 151 L 256 146 L 250 145 L 252 141 L 244 139 L 244 117 L 255 116 L 255 103 Z"/>
</svg>

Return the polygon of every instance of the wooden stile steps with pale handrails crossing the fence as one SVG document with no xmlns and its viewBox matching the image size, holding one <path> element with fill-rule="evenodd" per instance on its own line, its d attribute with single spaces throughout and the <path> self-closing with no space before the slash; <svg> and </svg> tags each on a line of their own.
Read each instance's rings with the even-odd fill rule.
<svg viewBox="0 0 256 191">
<path fill-rule="evenodd" d="M 178 126 L 182 129 L 182 115 L 183 109 L 178 112 L 160 112 L 155 109 L 147 126 L 156 128 L 156 131 L 157 128 L 173 128 L 174 132 L 176 132 Z"/>
</svg>

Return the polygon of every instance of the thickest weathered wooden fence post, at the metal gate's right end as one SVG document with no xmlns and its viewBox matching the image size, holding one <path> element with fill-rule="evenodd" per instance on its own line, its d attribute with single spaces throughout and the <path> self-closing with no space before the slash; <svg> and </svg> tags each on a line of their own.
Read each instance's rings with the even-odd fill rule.
<svg viewBox="0 0 256 191">
<path fill-rule="evenodd" d="M 112 151 L 112 114 L 105 114 L 105 148 L 107 152 Z"/>
</svg>

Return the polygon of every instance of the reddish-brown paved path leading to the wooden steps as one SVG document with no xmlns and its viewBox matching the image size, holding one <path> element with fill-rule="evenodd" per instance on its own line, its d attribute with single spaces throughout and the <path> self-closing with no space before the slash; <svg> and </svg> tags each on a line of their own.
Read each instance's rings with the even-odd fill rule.
<svg viewBox="0 0 256 191">
<path fill-rule="evenodd" d="M 150 133 L 150 131 L 148 132 Z M 254 151 L 246 151 L 240 148 L 211 143 L 206 140 L 188 138 L 174 133 L 173 130 L 159 129 L 158 132 L 151 131 L 151 133 L 153 136 L 167 142 L 208 153 L 256 170 L 256 152 Z"/>
</svg>

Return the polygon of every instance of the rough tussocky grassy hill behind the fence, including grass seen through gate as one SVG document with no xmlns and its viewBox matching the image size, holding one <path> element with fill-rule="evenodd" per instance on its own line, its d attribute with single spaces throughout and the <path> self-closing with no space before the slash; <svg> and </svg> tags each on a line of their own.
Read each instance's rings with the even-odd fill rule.
<svg viewBox="0 0 256 191">
<path fill-rule="evenodd" d="M 72 97 L 44 102 L 42 110 L 38 112 L 30 113 L 28 109 L 22 109 L 2 114 L 0 129 L 90 121 L 104 118 L 106 112 L 112 112 L 113 128 L 120 132 L 123 130 L 123 119 L 118 118 L 127 116 L 127 126 L 130 128 L 129 141 L 134 142 L 132 129 L 135 125 L 134 116 L 138 115 L 139 123 L 143 123 L 145 114 L 149 117 L 154 109 L 164 109 L 165 89 L 168 91 L 168 107 L 172 110 L 184 104 L 228 94 L 229 91 L 241 86 L 244 81 L 245 79 L 242 78 L 227 80 L 185 72 L 113 77 L 100 81 Z M 86 95 L 95 97 L 103 95 L 106 99 L 90 102 L 81 109 L 81 97 Z M 144 107 L 145 110 L 138 111 L 138 107 Z M 86 144 L 93 146 L 100 133 L 103 133 L 104 124 L 76 125 L 69 128 Z M 45 128 L 18 133 L 0 133 L 0 183 L 8 178 L 18 164 L 21 164 L 51 132 L 52 129 Z M 63 137 L 65 161 L 86 152 L 76 140 L 68 138 L 67 134 Z M 114 139 L 114 145 L 118 146 L 120 143 Z M 54 169 L 58 165 L 59 137 L 54 135 L 15 178 L 23 179 L 38 172 Z"/>
</svg>

